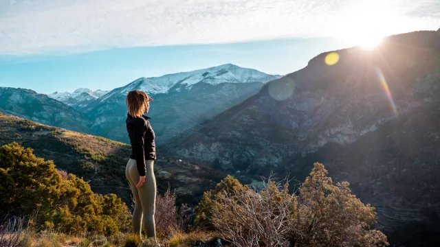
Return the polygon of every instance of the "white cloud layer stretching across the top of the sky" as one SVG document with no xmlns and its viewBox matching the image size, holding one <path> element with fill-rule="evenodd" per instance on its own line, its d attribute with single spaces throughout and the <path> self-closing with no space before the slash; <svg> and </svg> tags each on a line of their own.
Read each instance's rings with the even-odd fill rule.
<svg viewBox="0 0 440 247">
<path fill-rule="evenodd" d="M 115 47 L 338 36 L 340 32 L 349 32 L 344 23 L 350 22 L 351 11 L 362 10 L 356 7 L 359 2 L 0 0 L 0 54 L 76 53 Z M 392 4 L 382 6 L 381 2 Z M 383 8 L 393 8 L 393 18 L 401 23 L 400 28 L 395 28 L 398 32 L 437 30 L 440 23 L 438 15 L 421 18 L 406 14 L 421 8 L 426 1 L 368 3 L 377 4 L 382 12 Z M 439 12 L 438 5 L 436 8 Z M 375 14 L 375 8 L 371 11 Z"/>
</svg>

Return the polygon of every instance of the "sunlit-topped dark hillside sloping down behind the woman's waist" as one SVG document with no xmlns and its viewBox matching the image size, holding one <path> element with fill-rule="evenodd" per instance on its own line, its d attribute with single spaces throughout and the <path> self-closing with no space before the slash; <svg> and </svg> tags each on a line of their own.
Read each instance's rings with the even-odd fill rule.
<svg viewBox="0 0 440 247">
<path fill-rule="evenodd" d="M 115 193 L 131 204 L 131 191 L 125 178 L 125 165 L 131 153 L 129 145 L 0 114 L 0 145 L 12 141 L 33 148 L 36 156 L 53 160 L 58 169 L 83 177 L 94 192 Z M 197 204 L 203 191 L 212 189 L 225 176 L 160 154 L 155 174 L 160 193 L 169 184 L 178 202 L 190 205 Z"/>
</svg>

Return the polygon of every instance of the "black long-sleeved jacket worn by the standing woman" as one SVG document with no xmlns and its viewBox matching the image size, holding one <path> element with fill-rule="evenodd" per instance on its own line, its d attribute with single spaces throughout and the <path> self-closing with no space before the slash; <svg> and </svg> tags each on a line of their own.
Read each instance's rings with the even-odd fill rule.
<svg viewBox="0 0 440 247">
<path fill-rule="evenodd" d="M 129 132 L 131 143 L 130 158 L 136 160 L 137 171 L 140 176 L 146 175 L 145 160 L 156 159 L 155 134 L 148 121 L 150 117 L 126 117 L 126 130 Z"/>
</svg>

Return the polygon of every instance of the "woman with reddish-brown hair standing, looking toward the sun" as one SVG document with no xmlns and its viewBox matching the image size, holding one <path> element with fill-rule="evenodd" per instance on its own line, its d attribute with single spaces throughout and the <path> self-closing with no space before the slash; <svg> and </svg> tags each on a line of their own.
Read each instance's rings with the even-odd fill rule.
<svg viewBox="0 0 440 247">
<path fill-rule="evenodd" d="M 130 91 L 126 95 L 129 110 L 126 130 L 131 142 L 131 156 L 126 164 L 125 175 L 131 185 L 135 210 L 131 223 L 135 234 L 141 236 L 141 222 L 147 238 L 156 239 L 154 211 L 156 202 L 156 180 L 153 163 L 156 159 L 155 134 L 144 113 L 150 108 L 148 95 L 142 91 Z M 143 216 L 143 217 L 142 217 Z"/>
</svg>

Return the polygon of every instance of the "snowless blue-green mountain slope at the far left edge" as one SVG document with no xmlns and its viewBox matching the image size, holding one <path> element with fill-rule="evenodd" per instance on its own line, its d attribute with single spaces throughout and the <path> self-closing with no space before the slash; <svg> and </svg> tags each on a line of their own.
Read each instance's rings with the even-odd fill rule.
<svg viewBox="0 0 440 247">
<path fill-rule="evenodd" d="M 0 112 L 78 132 L 91 132 L 90 121 L 77 110 L 28 89 L 0 87 Z"/>
</svg>

